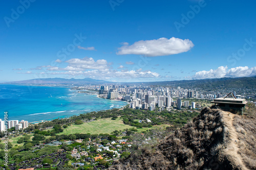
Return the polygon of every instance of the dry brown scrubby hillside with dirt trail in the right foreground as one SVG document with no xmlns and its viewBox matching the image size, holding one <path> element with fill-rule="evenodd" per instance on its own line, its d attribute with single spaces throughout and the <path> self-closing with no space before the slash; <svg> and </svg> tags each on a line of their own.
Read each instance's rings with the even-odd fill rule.
<svg viewBox="0 0 256 170">
<path fill-rule="evenodd" d="M 256 169 L 255 130 L 255 119 L 204 108 L 159 144 L 143 145 L 110 169 Z"/>
</svg>

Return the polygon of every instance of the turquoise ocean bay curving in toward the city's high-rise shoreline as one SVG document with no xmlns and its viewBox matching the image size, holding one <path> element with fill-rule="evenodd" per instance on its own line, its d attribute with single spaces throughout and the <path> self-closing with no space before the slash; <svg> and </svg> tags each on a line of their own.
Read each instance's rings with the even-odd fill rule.
<svg viewBox="0 0 256 170">
<path fill-rule="evenodd" d="M 125 105 L 126 102 L 101 99 L 96 94 L 78 93 L 71 87 L 0 84 L 2 120 L 4 112 L 8 112 L 8 120 L 35 122 Z"/>
</svg>

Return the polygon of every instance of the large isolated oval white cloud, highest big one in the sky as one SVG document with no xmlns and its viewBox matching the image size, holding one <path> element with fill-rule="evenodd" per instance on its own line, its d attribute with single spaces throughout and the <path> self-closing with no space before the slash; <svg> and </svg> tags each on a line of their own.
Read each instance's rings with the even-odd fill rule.
<svg viewBox="0 0 256 170">
<path fill-rule="evenodd" d="M 147 57 L 168 56 L 179 54 L 190 50 L 194 44 L 189 39 L 179 39 L 172 37 L 159 38 L 154 40 L 141 40 L 132 45 L 124 44 L 118 48 L 117 55 L 136 54 Z"/>
</svg>

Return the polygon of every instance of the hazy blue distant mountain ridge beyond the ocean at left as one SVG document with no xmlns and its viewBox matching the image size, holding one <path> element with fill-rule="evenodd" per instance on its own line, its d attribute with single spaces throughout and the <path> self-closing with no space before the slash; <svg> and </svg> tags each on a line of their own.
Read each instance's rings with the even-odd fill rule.
<svg viewBox="0 0 256 170">
<path fill-rule="evenodd" d="M 32 79 L 32 80 L 23 80 L 23 81 L 15 81 L 15 82 L 7 82 L 2 84 L 100 84 L 100 83 L 110 83 L 104 80 L 96 80 L 91 78 L 85 79 L 63 79 L 63 78 L 46 78 L 46 79 Z"/>
</svg>

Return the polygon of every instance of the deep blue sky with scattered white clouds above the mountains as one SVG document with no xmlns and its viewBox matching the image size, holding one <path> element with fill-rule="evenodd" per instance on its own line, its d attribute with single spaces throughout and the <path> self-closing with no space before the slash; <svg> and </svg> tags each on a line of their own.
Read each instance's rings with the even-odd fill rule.
<svg viewBox="0 0 256 170">
<path fill-rule="evenodd" d="M 0 82 L 256 75 L 255 1 L 5 1 Z"/>
</svg>

